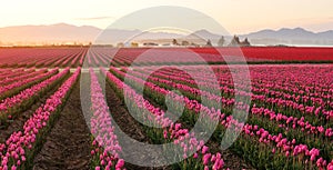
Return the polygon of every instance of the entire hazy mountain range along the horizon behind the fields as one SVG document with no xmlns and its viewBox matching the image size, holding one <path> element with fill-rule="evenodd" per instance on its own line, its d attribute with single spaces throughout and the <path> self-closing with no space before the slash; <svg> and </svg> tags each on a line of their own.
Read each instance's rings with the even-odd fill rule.
<svg viewBox="0 0 333 170">
<path fill-rule="evenodd" d="M 13 44 L 73 44 L 73 43 L 112 43 L 127 41 L 171 43 L 189 41 L 204 44 L 208 39 L 215 44 L 222 34 L 212 33 L 205 29 L 189 34 L 170 32 L 143 32 L 141 30 L 102 30 L 91 26 L 72 26 L 58 23 L 50 26 L 18 26 L 0 28 L 0 46 Z M 333 30 L 312 32 L 303 28 L 282 28 L 279 30 L 260 30 L 248 34 L 239 34 L 240 39 L 248 38 L 254 46 L 333 46 Z M 232 36 L 224 36 L 226 43 Z M 97 40 L 97 41 L 95 41 Z"/>
</svg>

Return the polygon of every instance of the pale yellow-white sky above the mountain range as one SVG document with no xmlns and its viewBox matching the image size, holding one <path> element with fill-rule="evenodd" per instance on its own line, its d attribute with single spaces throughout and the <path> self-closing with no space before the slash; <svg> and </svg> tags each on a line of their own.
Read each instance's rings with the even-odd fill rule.
<svg viewBox="0 0 333 170">
<path fill-rule="evenodd" d="M 103 29 L 157 6 L 198 10 L 232 33 L 296 27 L 314 32 L 333 30 L 333 0 L 2 0 L 0 27 L 65 22 Z"/>
</svg>

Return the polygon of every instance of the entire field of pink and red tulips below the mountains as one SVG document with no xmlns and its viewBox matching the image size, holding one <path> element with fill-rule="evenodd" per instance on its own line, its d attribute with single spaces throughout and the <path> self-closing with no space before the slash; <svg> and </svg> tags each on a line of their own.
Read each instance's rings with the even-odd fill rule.
<svg viewBox="0 0 333 170">
<path fill-rule="evenodd" d="M 150 49 L 1 48 L 0 170 L 333 170 L 333 49 L 241 48 L 246 66 L 230 50 L 161 48 L 135 60 Z M 249 113 L 245 122 L 235 110 Z M 191 131 L 199 120 L 216 122 L 206 141 L 204 129 Z M 230 127 L 240 134 L 221 150 Z M 143 143 L 172 143 L 179 150 L 171 158 L 181 161 L 127 161 L 138 154 L 120 130 Z M 140 157 L 160 161 L 154 152 Z"/>
</svg>

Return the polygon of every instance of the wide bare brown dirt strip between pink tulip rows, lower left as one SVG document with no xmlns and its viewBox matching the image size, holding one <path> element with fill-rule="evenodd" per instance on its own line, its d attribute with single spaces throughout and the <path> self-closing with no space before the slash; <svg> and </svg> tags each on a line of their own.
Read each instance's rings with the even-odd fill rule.
<svg viewBox="0 0 333 170">
<path fill-rule="evenodd" d="M 80 84 L 77 83 L 59 120 L 36 156 L 33 170 L 88 170 L 90 150 L 90 130 L 81 110 Z"/>
</svg>

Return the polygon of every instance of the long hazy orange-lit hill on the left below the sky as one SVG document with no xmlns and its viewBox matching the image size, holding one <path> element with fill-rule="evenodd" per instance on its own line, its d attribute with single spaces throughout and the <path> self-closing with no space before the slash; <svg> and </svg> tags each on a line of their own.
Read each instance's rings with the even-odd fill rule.
<svg viewBox="0 0 333 170">
<path fill-rule="evenodd" d="M 18 26 L 0 28 L 0 44 L 53 44 L 53 43 L 113 43 L 135 40 L 179 38 L 168 32 L 142 32 L 140 30 L 102 30 L 90 26 L 58 23 L 50 26 Z M 124 39 L 125 38 L 125 39 Z"/>
</svg>

